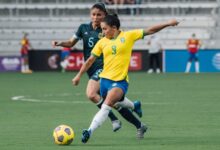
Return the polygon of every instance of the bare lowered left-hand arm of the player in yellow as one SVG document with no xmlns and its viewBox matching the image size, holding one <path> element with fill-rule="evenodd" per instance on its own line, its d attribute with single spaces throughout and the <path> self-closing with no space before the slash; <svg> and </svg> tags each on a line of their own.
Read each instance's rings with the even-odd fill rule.
<svg viewBox="0 0 220 150">
<path fill-rule="evenodd" d="M 86 72 L 94 63 L 94 61 L 96 60 L 96 57 L 91 55 L 86 62 L 82 65 L 82 67 L 80 68 L 80 71 L 77 73 L 77 75 L 72 79 L 72 83 L 73 85 L 78 85 L 81 76 L 83 75 L 84 72 Z"/>
</svg>

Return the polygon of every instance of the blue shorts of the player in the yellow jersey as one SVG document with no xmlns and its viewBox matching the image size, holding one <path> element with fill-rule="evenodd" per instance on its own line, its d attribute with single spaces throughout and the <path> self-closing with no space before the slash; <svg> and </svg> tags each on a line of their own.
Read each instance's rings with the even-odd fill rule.
<svg viewBox="0 0 220 150">
<path fill-rule="evenodd" d="M 125 95 L 128 90 L 128 82 L 126 80 L 112 81 L 112 80 L 105 79 L 105 78 L 100 79 L 100 95 L 103 98 L 107 96 L 107 93 L 109 90 L 115 87 L 122 89 Z"/>
</svg>

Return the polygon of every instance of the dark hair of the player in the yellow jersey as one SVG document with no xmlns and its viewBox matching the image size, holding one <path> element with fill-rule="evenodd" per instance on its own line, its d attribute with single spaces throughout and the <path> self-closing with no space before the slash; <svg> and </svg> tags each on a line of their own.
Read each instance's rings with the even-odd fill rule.
<svg viewBox="0 0 220 150">
<path fill-rule="evenodd" d="M 105 22 L 110 27 L 116 26 L 117 29 L 120 28 L 120 20 L 117 14 L 110 14 L 105 16 L 102 22 Z"/>
</svg>

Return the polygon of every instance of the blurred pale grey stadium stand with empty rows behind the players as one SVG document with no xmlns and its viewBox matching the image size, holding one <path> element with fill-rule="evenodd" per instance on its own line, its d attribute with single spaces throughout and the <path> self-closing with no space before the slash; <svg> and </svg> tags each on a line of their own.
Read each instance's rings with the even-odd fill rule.
<svg viewBox="0 0 220 150">
<path fill-rule="evenodd" d="M 19 55 L 20 39 L 29 33 L 35 49 L 51 49 L 51 40 L 66 40 L 81 23 L 89 22 L 89 10 L 100 0 L 1 0 L 0 55 Z M 142 0 L 136 5 L 107 5 L 121 19 L 122 29 L 145 28 L 171 18 L 181 24 L 158 33 L 166 49 L 184 49 L 196 33 L 205 48 L 220 48 L 220 0 Z M 82 43 L 76 45 L 82 48 Z M 140 40 L 135 49 L 147 49 Z"/>
</svg>

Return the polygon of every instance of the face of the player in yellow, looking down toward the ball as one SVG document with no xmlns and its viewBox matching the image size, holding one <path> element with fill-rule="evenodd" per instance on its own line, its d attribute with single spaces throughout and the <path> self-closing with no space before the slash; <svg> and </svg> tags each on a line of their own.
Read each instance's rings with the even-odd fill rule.
<svg viewBox="0 0 220 150">
<path fill-rule="evenodd" d="M 115 26 L 111 27 L 107 25 L 105 22 L 101 22 L 102 33 L 106 38 L 112 39 L 114 38 L 117 28 Z"/>
</svg>

